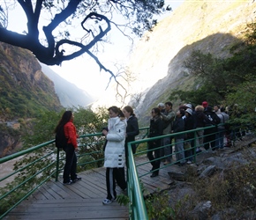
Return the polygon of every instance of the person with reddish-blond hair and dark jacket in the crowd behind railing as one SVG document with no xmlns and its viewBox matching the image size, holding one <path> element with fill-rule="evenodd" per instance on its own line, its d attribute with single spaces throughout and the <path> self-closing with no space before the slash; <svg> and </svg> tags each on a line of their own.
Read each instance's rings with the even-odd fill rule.
<svg viewBox="0 0 256 220">
<path fill-rule="evenodd" d="M 207 115 L 204 114 L 204 106 L 196 106 L 195 107 L 195 120 L 196 120 L 196 128 L 204 128 L 206 121 L 211 123 L 211 121 L 207 118 Z M 200 153 L 200 147 L 204 144 L 204 129 L 198 130 L 196 132 L 196 144 L 197 149 L 196 153 Z"/>
</svg>

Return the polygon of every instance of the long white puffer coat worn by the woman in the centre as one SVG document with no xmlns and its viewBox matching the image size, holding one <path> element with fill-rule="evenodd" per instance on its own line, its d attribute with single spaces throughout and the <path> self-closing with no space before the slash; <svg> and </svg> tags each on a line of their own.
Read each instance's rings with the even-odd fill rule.
<svg viewBox="0 0 256 220">
<path fill-rule="evenodd" d="M 108 128 L 109 132 L 106 136 L 108 143 L 105 149 L 104 166 L 109 168 L 124 167 L 126 122 L 119 117 L 110 118 Z"/>
</svg>

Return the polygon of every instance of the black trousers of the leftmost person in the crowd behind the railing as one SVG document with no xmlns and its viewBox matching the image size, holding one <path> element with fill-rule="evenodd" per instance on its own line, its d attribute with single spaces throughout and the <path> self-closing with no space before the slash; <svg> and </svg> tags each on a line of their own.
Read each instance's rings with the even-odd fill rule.
<svg viewBox="0 0 256 220">
<path fill-rule="evenodd" d="M 159 167 L 160 167 L 161 160 L 157 159 L 157 158 L 160 158 L 160 149 L 156 149 L 156 148 L 160 147 L 160 143 L 161 143 L 161 141 L 158 141 L 156 143 L 149 142 L 147 144 L 147 149 L 148 149 L 147 150 L 147 158 L 150 160 L 153 171 L 156 169 L 159 169 Z M 153 153 L 154 153 L 154 155 L 153 155 Z M 157 160 L 154 160 L 154 159 L 157 159 Z M 152 160 L 154 160 L 154 161 L 152 161 Z M 154 171 L 154 172 L 158 174 L 159 170 Z"/>
</svg>

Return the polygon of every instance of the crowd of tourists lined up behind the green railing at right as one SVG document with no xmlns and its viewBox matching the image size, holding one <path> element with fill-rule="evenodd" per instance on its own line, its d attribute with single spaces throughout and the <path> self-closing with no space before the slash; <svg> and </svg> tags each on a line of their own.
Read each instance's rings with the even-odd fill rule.
<svg viewBox="0 0 256 220">
<path fill-rule="evenodd" d="M 158 109 L 157 109 L 158 108 Z M 223 150 L 224 144 L 230 143 L 230 136 L 226 134 L 224 126 L 230 119 L 224 107 L 210 106 L 207 101 L 201 105 L 192 106 L 187 103 L 177 107 L 175 112 L 171 102 L 159 103 L 157 108 L 151 111 L 149 137 L 175 134 L 182 131 L 189 131 L 198 128 L 196 131 L 196 148 L 194 148 L 194 133 L 185 132 L 177 136 L 163 137 L 148 143 L 147 158 L 152 164 L 152 175 L 159 174 L 161 160 L 163 165 L 174 163 L 183 166 L 192 164 L 192 155 L 200 153 L 202 148 Z M 208 127 L 208 128 L 206 128 Z M 225 136 L 226 135 L 226 136 Z M 227 142 L 224 143 L 224 137 Z M 175 153 L 173 153 L 173 148 Z"/>
</svg>

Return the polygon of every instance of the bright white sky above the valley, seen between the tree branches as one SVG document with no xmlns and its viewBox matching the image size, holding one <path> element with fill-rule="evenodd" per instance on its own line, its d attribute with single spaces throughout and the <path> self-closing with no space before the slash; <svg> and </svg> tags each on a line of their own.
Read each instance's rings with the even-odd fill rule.
<svg viewBox="0 0 256 220">
<path fill-rule="evenodd" d="M 2 2 L 0 0 L 0 4 Z M 169 5 L 172 10 L 175 10 L 183 2 L 184 0 L 167 0 L 165 6 Z M 19 14 L 20 25 L 17 25 L 17 14 Z M 18 33 L 26 30 L 26 17 L 19 9 L 10 13 L 8 29 Z M 110 32 L 109 40 L 112 41 L 112 44 L 106 44 L 98 56 L 106 68 L 115 72 L 115 63 L 125 66 L 125 63 L 128 62 L 131 55 L 131 41 L 119 33 L 117 29 L 113 28 Z M 106 92 L 110 75 L 103 70 L 100 71 L 97 63 L 87 54 L 80 55 L 71 61 L 62 62 L 61 66 L 49 67 L 59 76 L 64 77 L 72 84 L 76 84 L 80 89 L 85 90 L 95 98 L 101 97 Z M 112 81 L 111 84 L 114 84 L 114 82 Z"/>
</svg>

